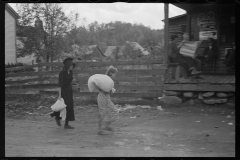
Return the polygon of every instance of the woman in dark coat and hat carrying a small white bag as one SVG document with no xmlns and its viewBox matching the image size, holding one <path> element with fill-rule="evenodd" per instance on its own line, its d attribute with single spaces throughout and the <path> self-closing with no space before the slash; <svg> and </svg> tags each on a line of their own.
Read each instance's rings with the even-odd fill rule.
<svg viewBox="0 0 240 160">
<path fill-rule="evenodd" d="M 66 119 L 65 119 L 65 125 L 64 128 L 66 129 L 74 129 L 74 127 L 70 126 L 68 124 L 69 121 L 74 121 L 75 116 L 74 116 L 74 110 L 73 110 L 73 92 L 72 92 L 72 86 L 71 82 L 73 80 L 73 73 L 72 69 L 75 67 L 75 64 L 72 62 L 72 58 L 66 58 L 63 61 L 64 67 L 62 71 L 59 73 L 59 97 L 58 98 L 63 98 L 65 104 L 67 105 L 66 107 Z M 51 116 L 55 116 L 55 120 L 58 126 L 61 126 L 60 122 L 60 112 L 53 112 Z"/>
</svg>

